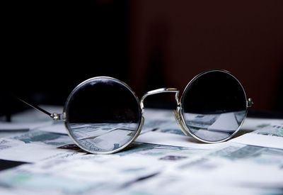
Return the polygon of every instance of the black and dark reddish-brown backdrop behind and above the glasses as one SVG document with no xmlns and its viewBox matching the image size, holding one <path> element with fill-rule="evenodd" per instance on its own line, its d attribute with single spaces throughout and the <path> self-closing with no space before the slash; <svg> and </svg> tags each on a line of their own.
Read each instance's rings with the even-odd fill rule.
<svg viewBox="0 0 283 195">
<path fill-rule="evenodd" d="M 241 81 L 254 111 L 282 113 L 282 10 L 279 0 L 1 3 L 0 113 L 26 108 L 9 94 L 64 105 L 90 77 L 121 79 L 141 97 L 183 91 L 215 68 Z"/>
</svg>

